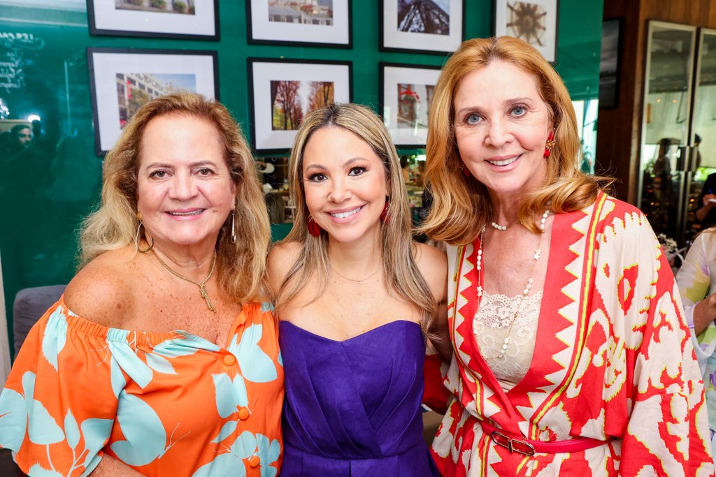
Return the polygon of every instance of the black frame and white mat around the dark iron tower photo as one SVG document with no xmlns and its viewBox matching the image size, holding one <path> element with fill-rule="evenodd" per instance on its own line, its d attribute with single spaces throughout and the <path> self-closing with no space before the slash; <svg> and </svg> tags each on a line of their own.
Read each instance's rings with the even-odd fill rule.
<svg viewBox="0 0 716 477">
<path fill-rule="evenodd" d="M 437 54 L 448 55 L 453 53 L 465 39 L 465 0 L 427 0 L 442 12 L 438 16 L 448 16 L 448 33 L 445 34 L 445 22 L 433 22 L 430 29 L 437 29 L 443 33 L 432 31 L 406 31 L 400 19 L 407 19 L 410 12 L 405 13 L 398 9 L 398 0 L 380 0 L 378 5 L 378 18 L 380 25 L 379 49 L 380 51 L 393 51 L 397 53 Z M 437 3 L 436 3 L 437 2 Z M 442 9 L 438 3 L 448 5 L 448 11 Z M 458 18 L 455 18 L 458 16 Z M 422 23 L 425 26 L 425 22 Z M 392 29 L 390 25 L 395 25 Z M 407 23 L 405 28 L 407 28 Z"/>
</svg>

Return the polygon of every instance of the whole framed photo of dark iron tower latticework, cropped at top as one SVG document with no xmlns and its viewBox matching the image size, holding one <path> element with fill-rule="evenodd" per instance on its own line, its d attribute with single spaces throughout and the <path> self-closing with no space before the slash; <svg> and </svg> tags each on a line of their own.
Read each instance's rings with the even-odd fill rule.
<svg viewBox="0 0 716 477">
<path fill-rule="evenodd" d="M 450 54 L 463 42 L 465 0 L 380 0 L 380 49 Z"/>
</svg>

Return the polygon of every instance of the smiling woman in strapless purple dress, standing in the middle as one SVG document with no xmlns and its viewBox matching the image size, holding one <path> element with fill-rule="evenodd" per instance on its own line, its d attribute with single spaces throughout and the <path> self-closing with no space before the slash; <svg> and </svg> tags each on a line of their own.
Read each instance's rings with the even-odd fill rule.
<svg viewBox="0 0 716 477">
<path fill-rule="evenodd" d="M 286 373 L 281 475 L 439 475 L 420 403 L 425 336 L 450 355 L 447 265 L 411 240 L 389 133 L 366 107 L 319 109 L 296 135 L 289 180 L 294 227 L 269 255 Z"/>
</svg>

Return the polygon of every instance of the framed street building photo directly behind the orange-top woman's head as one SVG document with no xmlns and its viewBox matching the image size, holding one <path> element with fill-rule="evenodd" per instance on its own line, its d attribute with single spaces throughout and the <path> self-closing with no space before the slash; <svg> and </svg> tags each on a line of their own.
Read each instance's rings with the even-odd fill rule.
<svg viewBox="0 0 716 477">
<path fill-rule="evenodd" d="M 142 104 L 177 91 L 218 99 L 216 51 L 87 48 L 97 155 Z"/>
</svg>

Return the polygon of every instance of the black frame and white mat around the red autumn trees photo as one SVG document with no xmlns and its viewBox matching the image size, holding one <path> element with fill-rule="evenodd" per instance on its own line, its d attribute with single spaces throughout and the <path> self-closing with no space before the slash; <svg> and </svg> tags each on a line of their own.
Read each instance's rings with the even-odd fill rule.
<svg viewBox="0 0 716 477">
<path fill-rule="evenodd" d="M 291 124 L 291 127 L 274 127 L 276 94 L 272 90 L 275 85 L 272 85 L 271 82 L 291 84 L 299 82 L 299 89 L 313 87 L 314 82 L 332 83 L 332 102 L 344 103 L 353 100 L 352 62 L 249 57 L 246 59 L 246 64 L 251 107 L 251 146 L 256 154 L 288 152 L 294 142 L 296 128 L 300 124 L 298 122 Z M 289 65 L 291 65 L 290 68 L 287 67 Z M 281 85 L 276 87 L 281 87 Z M 306 89 L 301 94 L 305 94 L 305 92 Z M 307 112 L 309 110 L 301 111 L 301 118 Z"/>
</svg>

